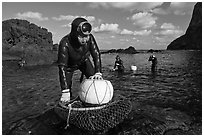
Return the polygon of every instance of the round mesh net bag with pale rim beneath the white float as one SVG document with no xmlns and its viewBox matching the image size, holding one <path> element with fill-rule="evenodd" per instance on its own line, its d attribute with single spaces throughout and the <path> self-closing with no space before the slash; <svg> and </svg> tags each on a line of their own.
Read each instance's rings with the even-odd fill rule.
<svg viewBox="0 0 204 137">
<path fill-rule="evenodd" d="M 102 106 L 84 107 L 82 102 L 75 101 L 67 108 L 56 107 L 55 112 L 67 120 L 67 125 L 73 124 L 88 131 L 104 131 L 122 122 L 131 109 L 131 102 L 117 95 L 111 102 Z"/>
</svg>

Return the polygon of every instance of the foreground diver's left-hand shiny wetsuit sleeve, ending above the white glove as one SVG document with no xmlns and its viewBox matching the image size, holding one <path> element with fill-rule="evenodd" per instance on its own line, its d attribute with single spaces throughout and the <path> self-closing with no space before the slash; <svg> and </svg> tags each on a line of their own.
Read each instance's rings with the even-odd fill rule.
<svg viewBox="0 0 204 137">
<path fill-rule="evenodd" d="M 62 39 L 58 50 L 58 67 L 61 90 L 69 89 L 67 83 L 68 43 Z"/>
</svg>

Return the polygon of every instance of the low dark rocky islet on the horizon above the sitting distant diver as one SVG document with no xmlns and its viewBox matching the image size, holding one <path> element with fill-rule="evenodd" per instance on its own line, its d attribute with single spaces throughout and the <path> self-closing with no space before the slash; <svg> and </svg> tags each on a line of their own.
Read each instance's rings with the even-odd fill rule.
<svg viewBox="0 0 204 137">
<path fill-rule="evenodd" d="M 139 53 L 135 50 L 134 47 L 130 46 L 128 47 L 127 49 L 111 49 L 111 50 L 108 50 L 108 51 L 105 51 L 105 52 L 102 52 L 103 53 L 125 53 L 125 54 L 136 54 L 136 53 Z"/>
</svg>

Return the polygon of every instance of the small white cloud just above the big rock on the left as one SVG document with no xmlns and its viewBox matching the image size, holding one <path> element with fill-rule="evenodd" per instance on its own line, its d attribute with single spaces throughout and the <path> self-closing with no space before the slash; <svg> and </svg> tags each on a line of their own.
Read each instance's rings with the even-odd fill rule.
<svg viewBox="0 0 204 137">
<path fill-rule="evenodd" d="M 22 19 L 37 19 L 39 21 L 44 21 L 44 20 L 48 20 L 48 17 L 42 17 L 42 14 L 39 12 L 32 12 L 32 11 L 28 11 L 28 12 L 24 12 L 24 13 L 17 13 L 16 14 L 17 18 L 22 18 Z"/>
</svg>

